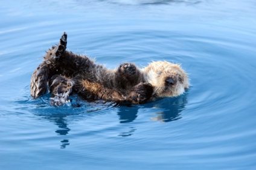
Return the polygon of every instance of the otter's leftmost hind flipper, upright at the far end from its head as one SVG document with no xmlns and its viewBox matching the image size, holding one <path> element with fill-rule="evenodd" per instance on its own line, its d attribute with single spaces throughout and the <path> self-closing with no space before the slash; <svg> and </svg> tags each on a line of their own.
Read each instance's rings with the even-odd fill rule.
<svg viewBox="0 0 256 170">
<path fill-rule="evenodd" d="M 34 73 L 32 74 L 30 81 L 30 94 L 34 98 L 37 98 L 45 94 L 47 90 L 49 68 L 45 62 L 42 62 Z"/>
</svg>

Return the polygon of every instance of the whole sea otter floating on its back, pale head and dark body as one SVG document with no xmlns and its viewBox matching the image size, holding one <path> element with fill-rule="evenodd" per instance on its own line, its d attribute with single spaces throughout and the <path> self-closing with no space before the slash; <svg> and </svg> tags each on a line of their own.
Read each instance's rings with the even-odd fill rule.
<svg viewBox="0 0 256 170">
<path fill-rule="evenodd" d="M 51 103 L 56 106 L 68 102 L 71 93 L 86 100 L 139 104 L 155 97 L 179 96 L 189 87 L 187 73 L 178 64 L 157 61 L 138 68 L 124 63 L 110 70 L 85 55 L 66 50 L 66 44 L 64 32 L 59 44 L 46 52 L 31 77 L 32 97 L 45 94 L 49 85 Z"/>
</svg>

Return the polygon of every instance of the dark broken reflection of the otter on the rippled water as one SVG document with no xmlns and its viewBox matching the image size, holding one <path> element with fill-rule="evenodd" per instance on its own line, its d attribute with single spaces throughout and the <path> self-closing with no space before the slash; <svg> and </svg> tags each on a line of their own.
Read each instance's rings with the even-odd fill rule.
<svg viewBox="0 0 256 170">
<path fill-rule="evenodd" d="M 153 121 L 161 121 L 161 122 L 170 122 L 181 119 L 181 112 L 184 110 L 185 105 L 187 104 L 187 94 L 185 93 L 182 96 L 178 97 L 167 97 L 155 102 L 147 103 L 147 105 L 142 106 L 120 106 L 118 107 L 117 115 L 119 116 L 119 122 L 123 123 L 131 123 L 136 120 L 138 117 L 139 109 L 152 108 L 148 114 L 153 117 L 151 120 Z M 158 111 L 156 112 L 155 109 Z M 49 116 L 43 116 L 45 119 L 50 120 L 54 124 L 56 124 L 59 129 L 55 130 L 57 135 L 68 135 L 69 129 L 67 120 L 65 119 L 67 115 L 63 114 L 53 114 Z M 121 132 L 118 136 L 131 136 L 136 132 L 136 126 L 130 126 L 125 132 Z M 67 145 L 70 144 L 68 139 L 63 139 L 60 145 L 60 148 L 66 148 Z"/>
</svg>

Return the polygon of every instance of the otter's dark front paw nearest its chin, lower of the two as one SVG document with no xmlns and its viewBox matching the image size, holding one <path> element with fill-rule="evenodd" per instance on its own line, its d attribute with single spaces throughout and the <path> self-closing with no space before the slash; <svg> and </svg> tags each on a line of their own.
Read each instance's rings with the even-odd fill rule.
<svg viewBox="0 0 256 170">
<path fill-rule="evenodd" d="M 133 87 L 129 94 L 129 101 L 133 104 L 146 103 L 153 94 L 153 87 L 150 83 L 139 83 Z"/>
</svg>

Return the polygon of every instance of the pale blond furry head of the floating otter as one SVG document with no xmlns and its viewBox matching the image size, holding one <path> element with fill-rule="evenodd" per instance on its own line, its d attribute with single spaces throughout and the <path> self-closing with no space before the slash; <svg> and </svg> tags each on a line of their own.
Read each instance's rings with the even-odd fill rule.
<svg viewBox="0 0 256 170">
<path fill-rule="evenodd" d="M 152 62 L 144 68 L 146 82 L 152 84 L 156 97 L 179 96 L 189 87 L 188 76 L 178 64 Z"/>
</svg>

